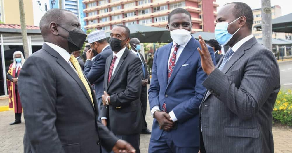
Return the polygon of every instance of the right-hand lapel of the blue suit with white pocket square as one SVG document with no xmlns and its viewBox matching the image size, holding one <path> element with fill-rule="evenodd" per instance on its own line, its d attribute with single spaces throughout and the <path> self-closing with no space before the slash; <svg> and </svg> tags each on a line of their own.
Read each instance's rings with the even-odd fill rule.
<svg viewBox="0 0 292 153">
<path fill-rule="evenodd" d="M 192 56 L 192 54 L 194 54 L 197 47 L 198 47 L 197 43 L 196 41 L 194 41 L 194 38 L 192 37 L 190 41 L 187 43 L 187 45 L 185 46 L 185 48 L 183 49 L 182 53 L 180 54 L 178 61 L 176 62 L 173 72 L 171 73 L 170 79 L 168 81 L 167 87 L 171 83 L 175 75 L 178 73 L 182 65 Z"/>
</svg>

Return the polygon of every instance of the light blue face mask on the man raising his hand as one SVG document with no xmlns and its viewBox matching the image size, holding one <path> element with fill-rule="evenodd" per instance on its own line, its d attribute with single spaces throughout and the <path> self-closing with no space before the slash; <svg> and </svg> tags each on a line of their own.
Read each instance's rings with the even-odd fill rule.
<svg viewBox="0 0 292 153">
<path fill-rule="evenodd" d="M 239 17 L 241 18 L 241 17 Z M 238 20 L 239 18 L 237 18 L 236 20 Z M 236 20 L 232 21 L 229 24 L 232 24 L 233 22 L 235 22 Z M 219 22 L 216 24 L 215 27 L 215 38 L 216 40 L 222 44 L 223 46 L 226 45 L 230 39 L 233 37 L 234 34 L 237 33 L 237 31 L 240 29 L 240 27 L 237 29 L 237 31 L 234 32 L 234 34 L 230 34 L 228 32 L 228 22 Z"/>
</svg>

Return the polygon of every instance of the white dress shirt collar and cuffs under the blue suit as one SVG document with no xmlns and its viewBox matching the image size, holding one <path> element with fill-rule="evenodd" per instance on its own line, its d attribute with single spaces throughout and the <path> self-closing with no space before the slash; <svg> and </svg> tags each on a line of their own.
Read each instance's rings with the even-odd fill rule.
<svg viewBox="0 0 292 153">
<path fill-rule="evenodd" d="M 177 50 L 177 52 L 176 52 L 175 64 L 176 64 L 176 62 L 178 61 L 178 58 L 180 57 L 180 55 L 182 54 L 183 49 L 185 48 L 185 46 L 187 45 L 187 43 L 191 40 L 191 38 L 192 38 L 192 36 L 189 37 L 189 40 L 188 40 L 185 44 L 180 45 L 180 46 L 178 47 L 178 50 Z M 171 58 L 171 55 L 172 55 L 172 53 L 173 53 L 173 51 L 174 51 L 174 46 L 175 46 L 175 45 L 176 45 L 176 43 L 173 41 L 172 48 L 171 48 L 171 51 L 170 51 L 170 54 L 169 54 L 169 58 L 168 58 L 168 62 L 169 62 L 169 60 L 170 60 L 170 58 Z M 168 65 L 168 62 L 167 62 L 167 65 Z M 168 67 L 168 66 L 167 66 L 167 67 Z M 167 72 L 168 72 L 168 68 L 167 68 Z M 155 105 L 155 106 L 151 109 L 151 111 L 154 110 L 154 109 L 155 109 L 155 110 L 160 110 L 160 108 L 159 108 L 158 105 Z M 173 122 L 175 122 L 175 121 L 178 120 L 178 119 L 176 118 L 176 116 L 175 116 L 173 110 L 171 110 L 171 112 L 169 112 L 169 116 L 171 117 L 171 119 L 172 119 Z"/>
</svg>

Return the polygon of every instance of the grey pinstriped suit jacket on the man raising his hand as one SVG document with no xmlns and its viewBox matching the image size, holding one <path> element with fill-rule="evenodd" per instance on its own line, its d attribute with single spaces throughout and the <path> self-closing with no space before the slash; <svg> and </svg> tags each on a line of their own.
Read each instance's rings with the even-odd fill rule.
<svg viewBox="0 0 292 153">
<path fill-rule="evenodd" d="M 277 60 L 256 38 L 244 43 L 203 82 L 201 152 L 274 152 L 272 111 L 280 90 Z"/>
</svg>

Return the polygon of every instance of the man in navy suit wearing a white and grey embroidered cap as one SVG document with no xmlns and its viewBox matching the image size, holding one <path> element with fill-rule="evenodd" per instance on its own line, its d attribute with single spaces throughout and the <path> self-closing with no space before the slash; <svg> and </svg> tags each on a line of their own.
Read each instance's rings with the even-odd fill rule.
<svg viewBox="0 0 292 153">
<path fill-rule="evenodd" d="M 107 37 L 103 30 L 93 31 L 88 34 L 88 43 L 90 50 L 86 52 L 86 62 L 84 65 L 84 74 L 90 84 L 94 84 L 96 99 L 99 112 L 102 105 L 103 79 L 105 73 L 105 61 L 112 54 L 112 49 L 107 43 Z M 95 58 L 93 59 L 94 55 Z M 93 59 L 93 61 L 91 61 Z M 100 119 L 100 116 L 98 117 Z"/>
</svg>

